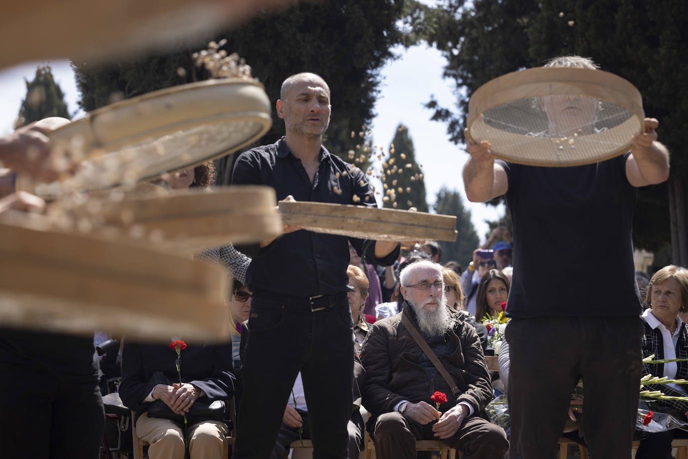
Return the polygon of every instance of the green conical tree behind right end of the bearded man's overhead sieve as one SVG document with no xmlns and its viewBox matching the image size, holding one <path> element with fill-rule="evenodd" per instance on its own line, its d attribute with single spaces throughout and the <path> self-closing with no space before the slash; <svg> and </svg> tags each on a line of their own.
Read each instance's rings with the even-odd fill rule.
<svg viewBox="0 0 688 459">
<path fill-rule="evenodd" d="M 442 188 L 437 193 L 434 209 L 444 215 L 456 215 L 456 241 L 440 241 L 439 244 L 444 262 L 455 260 L 465 269 L 466 264 L 473 259 L 473 250 L 480 245 L 480 239 L 471 223 L 471 212 L 464 209 L 461 194 L 447 188 Z"/>
</svg>

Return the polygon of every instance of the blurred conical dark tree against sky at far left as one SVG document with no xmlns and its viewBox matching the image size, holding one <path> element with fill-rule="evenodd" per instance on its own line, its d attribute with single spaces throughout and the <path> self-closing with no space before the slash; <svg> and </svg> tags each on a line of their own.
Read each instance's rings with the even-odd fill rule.
<svg viewBox="0 0 688 459">
<path fill-rule="evenodd" d="M 50 65 L 36 67 L 36 76 L 26 83 L 26 98 L 21 101 L 19 116 L 14 123 L 14 128 L 28 125 L 31 122 L 42 120 L 48 116 L 61 116 L 71 120 L 65 94 L 60 85 L 55 83 L 50 70 Z"/>
</svg>

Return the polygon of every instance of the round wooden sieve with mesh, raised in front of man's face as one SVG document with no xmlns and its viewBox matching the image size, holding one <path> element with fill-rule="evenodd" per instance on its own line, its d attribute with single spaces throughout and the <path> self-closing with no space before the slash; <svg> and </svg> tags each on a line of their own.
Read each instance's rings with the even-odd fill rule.
<svg viewBox="0 0 688 459">
<path fill-rule="evenodd" d="M 496 78 L 469 104 L 469 137 L 497 158 L 539 166 L 588 164 L 630 148 L 641 96 L 600 70 L 538 68 Z"/>
</svg>

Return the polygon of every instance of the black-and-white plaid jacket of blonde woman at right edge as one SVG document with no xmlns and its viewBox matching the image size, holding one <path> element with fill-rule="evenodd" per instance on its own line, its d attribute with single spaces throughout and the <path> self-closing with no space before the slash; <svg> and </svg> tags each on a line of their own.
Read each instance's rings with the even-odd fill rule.
<svg viewBox="0 0 688 459">
<path fill-rule="evenodd" d="M 659 328 L 652 330 L 652 327 L 643 319 L 643 326 L 645 327 L 645 334 L 643 334 L 643 359 L 654 354 L 655 359 L 664 359 L 664 340 L 662 332 Z M 678 343 L 676 343 L 676 359 L 688 359 L 688 328 L 685 323 L 681 323 L 680 331 L 678 332 Z M 677 362 L 675 379 L 688 379 L 688 362 Z M 652 374 L 652 376 L 664 376 L 664 364 L 656 363 L 649 365 L 643 363 L 643 376 Z M 685 386 L 688 389 L 688 385 Z M 663 394 L 672 397 L 686 396 L 685 392 L 674 389 L 666 384 L 651 384 L 646 385 L 643 389 L 659 390 Z M 662 401 L 662 403 L 671 405 L 680 412 L 688 412 L 688 403 L 681 401 Z"/>
</svg>

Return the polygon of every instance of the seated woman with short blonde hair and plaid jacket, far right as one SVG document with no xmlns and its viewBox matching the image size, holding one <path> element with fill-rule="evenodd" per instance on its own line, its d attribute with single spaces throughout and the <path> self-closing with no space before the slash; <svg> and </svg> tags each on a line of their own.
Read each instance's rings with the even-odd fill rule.
<svg viewBox="0 0 688 459">
<path fill-rule="evenodd" d="M 688 311 L 688 269 L 669 265 L 658 270 L 647 287 L 643 312 L 643 357 L 654 354 L 655 359 L 688 359 L 688 329 L 678 312 Z M 688 379 L 688 362 L 643 364 L 643 376 L 667 376 L 670 379 Z M 686 396 L 686 386 L 649 385 L 649 390 L 660 390 L 668 396 Z M 652 409 L 669 413 L 682 421 L 688 417 L 688 403 L 662 401 Z M 664 432 L 636 431 L 641 440 L 636 459 L 665 459 L 671 451 L 671 440 L 686 438 L 681 429 Z"/>
</svg>

